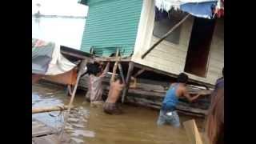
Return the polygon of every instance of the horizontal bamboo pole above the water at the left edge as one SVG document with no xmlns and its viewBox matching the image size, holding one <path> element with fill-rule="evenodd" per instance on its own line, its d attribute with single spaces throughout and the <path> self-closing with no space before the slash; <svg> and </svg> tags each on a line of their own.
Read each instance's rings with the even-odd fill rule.
<svg viewBox="0 0 256 144">
<path fill-rule="evenodd" d="M 68 106 L 47 106 L 32 108 L 32 114 L 46 113 L 50 111 L 62 111 L 67 110 Z"/>
</svg>

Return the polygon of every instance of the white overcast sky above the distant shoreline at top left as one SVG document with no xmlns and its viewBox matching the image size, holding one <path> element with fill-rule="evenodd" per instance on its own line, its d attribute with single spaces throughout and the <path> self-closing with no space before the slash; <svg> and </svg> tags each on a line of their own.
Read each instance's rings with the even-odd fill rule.
<svg viewBox="0 0 256 144">
<path fill-rule="evenodd" d="M 32 14 L 38 11 L 37 3 L 41 4 L 40 13 L 46 15 L 86 16 L 88 7 L 78 4 L 78 0 L 32 0 Z"/>
</svg>

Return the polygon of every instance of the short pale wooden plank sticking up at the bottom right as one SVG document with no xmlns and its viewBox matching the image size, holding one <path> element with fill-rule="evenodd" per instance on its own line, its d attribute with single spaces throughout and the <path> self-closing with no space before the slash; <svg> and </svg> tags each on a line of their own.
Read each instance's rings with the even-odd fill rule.
<svg viewBox="0 0 256 144">
<path fill-rule="evenodd" d="M 194 119 L 183 122 L 183 126 L 185 127 L 186 134 L 189 137 L 191 144 L 202 144 L 202 138 Z"/>
</svg>

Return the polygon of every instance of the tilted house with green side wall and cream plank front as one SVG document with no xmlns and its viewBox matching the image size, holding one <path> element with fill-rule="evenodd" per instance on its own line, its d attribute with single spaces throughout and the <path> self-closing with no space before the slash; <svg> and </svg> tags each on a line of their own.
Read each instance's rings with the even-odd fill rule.
<svg viewBox="0 0 256 144">
<path fill-rule="evenodd" d="M 224 67 L 224 0 L 80 0 L 81 50 L 213 87 Z M 168 33 L 169 32 L 169 33 Z M 142 72 L 142 71 L 141 71 Z"/>
</svg>

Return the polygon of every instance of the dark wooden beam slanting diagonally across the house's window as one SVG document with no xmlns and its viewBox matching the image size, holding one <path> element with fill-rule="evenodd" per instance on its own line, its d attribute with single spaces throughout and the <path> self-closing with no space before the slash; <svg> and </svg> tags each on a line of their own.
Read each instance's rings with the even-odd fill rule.
<svg viewBox="0 0 256 144">
<path fill-rule="evenodd" d="M 158 42 L 155 42 L 153 46 L 150 47 L 149 50 L 146 50 L 146 52 L 144 54 L 142 54 L 142 59 L 146 57 L 147 54 L 150 53 L 151 50 L 154 49 L 155 46 L 158 46 L 158 44 L 160 42 L 162 42 L 165 38 L 167 38 L 176 28 L 178 28 L 178 26 L 180 26 L 183 22 L 185 22 L 186 18 L 189 18 L 190 14 L 187 14 L 185 18 L 183 18 L 180 22 L 178 22 L 174 27 L 172 27 L 166 34 L 164 34 L 162 36 L 162 38 L 160 38 L 158 40 Z"/>
</svg>

